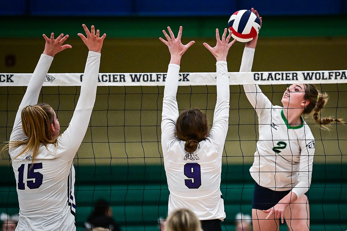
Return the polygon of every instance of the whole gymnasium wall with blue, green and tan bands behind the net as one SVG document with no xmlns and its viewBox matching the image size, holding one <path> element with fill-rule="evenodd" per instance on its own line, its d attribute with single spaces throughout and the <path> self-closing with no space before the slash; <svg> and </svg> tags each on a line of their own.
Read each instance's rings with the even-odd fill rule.
<svg viewBox="0 0 347 231">
<path fill-rule="evenodd" d="M 159 41 L 162 36 L 162 30 L 171 26 L 175 33 L 178 27 L 183 26 L 183 42 L 191 40 L 195 44 L 189 48 L 181 61 L 181 72 L 214 72 L 215 59 L 210 52 L 202 45 L 207 42 L 215 44 L 215 28 L 224 28 L 231 13 L 237 9 L 250 8 L 254 6 L 263 16 L 263 26 L 260 31 L 260 38 L 257 45 L 253 71 L 316 71 L 316 70 L 342 70 L 346 68 L 347 60 L 347 17 L 346 17 L 346 0 L 343 1 L 278 1 L 272 4 L 272 1 L 263 1 L 263 5 L 257 2 L 247 1 L 220 1 L 220 5 L 215 5 L 214 1 L 101 1 L 100 6 L 93 5 L 88 1 L 66 1 L 59 2 L 64 8 L 59 8 L 58 2 L 41 1 L 19 1 L 14 11 L 7 10 L 6 1 L 0 1 L 3 9 L 0 21 L 4 33 L 0 34 L 0 73 L 32 73 L 37 60 L 44 48 L 44 39 L 42 34 L 69 34 L 70 37 L 66 43 L 71 44 L 73 49 L 65 50 L 57 54 L 50 68 L 51 73 L 81 73 L 84 70 L 87 56 L 87 48 L 77 36 L 82 32 L 82 23 L 87 26 L 95 25 L 101 33 L 107 33 L 102 49 L 102 58 L 100 72 L 166 72 L 169 63 L 169 52 L 167 47 Z M 213 2 L 213 3 L 212 3 Z M 281 2 L 281 3 L 280 3 Z M 99 2 L 98 2 L 99 3 Z M 195 3 L 195 4 L 194 4 Z M 254 3 L 254 5 L 252 5 Z M 47 5 L 48 4 L 48 5 Z M 116 5 L 107 5 L 116 4 Z M 117 5 L 118 4 L 118 5 Z M 121 5 L 119 5 L 121 4 Z M 170 5 L 171 4 L 171 5 Z M 174 4 L 174 5 L 172 5 Z M 258 5 L 258 6 L 257 6 Z M 20 7 L 19 7 L 20 6 Z M 88 7 L 87 7 L 88 6 Z M 44 7 L 44 8 L 42 8 Z M 97 8 L 99 7 L 99 8 Z M 69 11 L 67 11 L 69 9 Z M 105 11 L 104 9 L 110 9 Z M 168 10 L 170 9 L 170 10 Z M 263 13 L 263 14 L 262 14 Z M 240 66 L 244 44 L 235 43 L 229 51 L 228 67 L 229 71 L 237 72 Z M 273 104 L 280 105 L 280 98 L 286 86 L 262 86 L 263 91 L 269 98 L 273 98 Z M 336 89 L 335 85 L 323 85 L 324 91 Z M 346 84 L 339 86 L 341 92 L 346 91 Z M 196 87 L 194 91 L 209 93 L 215 91 L 215 87 L 205 86 Z M 57 89 L 43 88 L 45 92 L 57 92 Z M 1 142 L 8 139 L 10 128 L 4 129 L 6 124 L 13 124 L 15 110 L 21 100 L 20 94 L 24 93 L 23 88 L 11 88 L 11 92 L 18 94 L 16 97 L 7 97 L 7 90 L 0 87 L 1 110 L 6 110 L 4 102 L 9 101 L 7 107 L 12 112 L 2 112 L 0 116 L 0 135 Z M 61 94 L 68 93 L 71 88 L 60 88 Z M 72 90 L 74 91 L 74 90 Z M 108 101 L 105 100 L 102 93 L 109 90 L 105 87 L 98 88 L 96 110 L 108 107 Z M 159 91 L 159 99 L 148 98 L 143 101 L 144 107 L 161 108 L 161 98 L 163 88 L 122 88 L 115 87 L 112 91 L 120 92 L 119 99 L 112 102 L 111 107 L 120 107 L 124 103 L 124 91 L 127 93 L 141 93 Z M 180 87 L 179 92 L 189 92 L 190 88 Z M 228 142 L 226 151 L 230 158 L 223 159 L 224 163 L 233 164 L 250 164 L 253 161 L 255 151 L 256 127 L 254 126 L 254 110 L 247 101 L 244 94 L 239 93 L 243 90 L 239 86 L 231 86 L 231 109 L 230 121 L 232 124 L 253 124 L 248 129 L 238 131 L 235 126 L 229 127 L 228 138 L 237 140 L 241 137 L 242 144 L 239 142 Z M 272 94 L 272 92 L 275 92 Z M 329 93 L 330 100 L 327 108 L 323 111 L 323 116 L 336 116 L 335 107 L 340 107 L 337 116 L 345 118 L 346 104 L 345 100 L 337 99 L 337 93 Z M 340 93 L 345 96 L 344 93 Z M 129 96 L 127 96 L 129 97 Z M 341 97 L 341 95 L 340 95 Z M 48 102 L 53 108 L 73 110 L 75 96 L 65 97 L 62 101 L 57 101 L 55 96 L 45 97 L 44 101 Z M 139 99 L 133 98 L 129 103 L 129 108 L 134 109 L 134 114 L 128 115 L 127 118 L 134 119 L 129 123 L 139 124 Z M 202 101 L 204 97 L 196 98 L 191 101 L 191 107 L 206 106 Z M 213 101 L 214 100 L 214 101 Z M 215 103 L 215 95 L 211 94 L 209 107 L 212 108 Z M 181 97 L 179 99 L 180 109 L 189 107 L 189 99 Z M 245 110 L 238 110 L 238 108 Z M 246 108 L 250 108 L 247 110 Z M 159 112 L 160 113 L 160 112 Z M 6 114 L 6 115 L 5 115 Z M 141 114 L 140 114 L 141 115 Z M 153 115 L 154 116 L 154 115 Z M 143 118 L 142 123 L 153 123 L 153 116 Z M 156 115 L 155 115 L 156 116 Z M 160 114 L 159 114 L 160 116 Z M 208 113 L 209 120 L 212 121 L 211 113 Z M 104 123 L 107 115 L 105 113 L 93 112 L 92 123 Z M 62 131 L 65 130 L 71 118 L 71 113 L 60 113 L 59 120 Z M 125 119 L 125 118 L 124 118 Z M 240 122 L 239 122 L 240 119 Z M 347 118 L 345 118 L 347 120 Z M 159 117 L 160 121 L 160 117 Z M 120 117 L 110 117 L 110 123 L 117 124 L 124 122 Z M 312 121 L 311 121 L 312 122 Z M 160 123 L 160 122 L 158 122 Z M 65 127 L 64 127 L 65 126 Z M 316 139 L 316 163 L 347 163 L 344 155 L 339 150 L 346 150 L 346 142 L 329 141 L 318 142 L 320 139 L 346 140 L 346 126 L 339 126 L 338 133 L 336 127 L 332 127 L 331 132 L 320 130 L 319 126 L 312 125 L 312 132 Z M 91 140 L 91 133 L 88 130 L 85 141 Z M 249 132 L 252 131 L 252 132 Z M 140 131 L 141 132 L 141 131 Z M 160 131 L 159 131 L 160 132 Z M 119 134 L 119 132 L 115 133 Z M 156 139 L 160 133 L 158 131 L 147 131 L 148 139 Z M 107 132 L 103 129 L 94 130 L 93 135 L 97 140 L 108 139 Z M 138 140 L 141 137 L 139 131 L 129 131 L 127 139 Z M 113 138 L 112 138 L 113 139 Z M 122 137 L 119 137 L 121 140 Z M 247 141 L 249 140 L 249 141 Z M 160 147 L 160 146 L 159 146 Z M 159 148 L 161 149 L 161 148 Z M 158 145 L 148 147 L 146 153 L 158 158 L 144 160 L 141 146 L 132 146 L 129 149 L 131 159 L 130 164 L 142 164 L 146 161 L 149 164 L 160 164 L 161 150 Z M 232 151 L 231 151 L 232 150 Z M 78 164 L 94 164 L 94 154 L 96 157 L 125 157 L 125 153 L 119 152 L 113 154 L 108 147 L 98 147 L 95 151 L 90 145 L 83 143 L 79 150 Z M 91 157 L 92 159 L 88 159 Z M 136 158 L 139 157 L 139 158 Z M 342 159 L 341 159 L 342 158 Z M 109 159 L 97 160 L 98 164 L 110 163 Z M 126 159 L 114 159 L 114 164 L 126 164 Z M 7 165 L 8 160 L 0 160 L 2 165 Z M 113 164 L 113 163 L 112 163 Z"/>
</svg>

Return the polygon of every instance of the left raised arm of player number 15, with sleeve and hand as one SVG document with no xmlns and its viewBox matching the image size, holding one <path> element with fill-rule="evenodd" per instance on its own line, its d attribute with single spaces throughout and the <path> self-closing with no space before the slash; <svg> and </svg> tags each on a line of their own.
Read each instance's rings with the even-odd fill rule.
<svg viewBox="0 0 347 231">
<path fill-rule="evenodd" d="M 69 35 L 64 36 L 64 34 L 60 34 L 57 39 L 54 39 L 54 33 L 51 33 L 50 38 L 43 34 L 43 38 L 46 40 L 45 48 L 30 78 L 22 102 L 19 105 L 10 141 L 23 141 L 27 139 L 22 129 L 22 109 L 27 105 L 37 104 L 43 81 L 51 66 L 54 55 L 66 48 L 71 48 L 68 44 L 62 45 L 68 37 Z"/>
</svg>

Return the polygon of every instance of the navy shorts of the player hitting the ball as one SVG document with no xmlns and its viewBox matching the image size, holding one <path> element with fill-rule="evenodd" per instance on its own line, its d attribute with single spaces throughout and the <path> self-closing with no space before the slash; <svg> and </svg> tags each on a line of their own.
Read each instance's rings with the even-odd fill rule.
<svg viewBox="0 0 347 231">
<path fill-rule="evenodd" d="M 268 210 L 275 206 L 291 190 L 274 191 L 255 183 L 253 193 L 253 207 L 260 210 Z"/>
</svg>

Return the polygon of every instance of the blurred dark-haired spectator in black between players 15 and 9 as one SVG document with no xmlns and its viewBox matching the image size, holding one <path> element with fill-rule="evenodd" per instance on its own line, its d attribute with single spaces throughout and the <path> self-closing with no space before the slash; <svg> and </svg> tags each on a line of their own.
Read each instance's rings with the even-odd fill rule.
<svg viewBox="0 0 347 231">
<path fill-rule="evenodd" d="M 85 231 L 95 231 L 97 227 L 106 228 L 109 231 L 120 231 L 119 225 L 113 219 L 112 208 L 105 200 L 96 201 L 94 210 L 84 225 Z"/>
</svg>

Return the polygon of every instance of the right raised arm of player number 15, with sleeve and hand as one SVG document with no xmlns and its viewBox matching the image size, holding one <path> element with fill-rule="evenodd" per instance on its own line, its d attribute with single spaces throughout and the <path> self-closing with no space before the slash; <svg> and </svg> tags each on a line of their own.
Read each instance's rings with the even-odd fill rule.
<svg viewBox="0 0 347 231">
<path fill-rule="evenodd" d="M 70 160 L 74 158 L 75 153 L 84 138 L 92 114 L 96 85 L 98 82 L 100 56 L 103 40 L 106 34 L 100 37 L 100 31 L 95 33 L 94 26 L 91 31 L 86 25 L 82 25 L 87 35 L 78 34 L 89 49 L 86 66 L 84 69 L 83 81 L 81 85 L 81 94 L 79 95 L 75 112 L 66 131 L 58 138 L 60 149 L 57 153 L 61 159 Z"/>
</svg>

